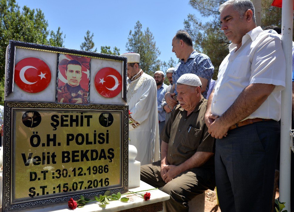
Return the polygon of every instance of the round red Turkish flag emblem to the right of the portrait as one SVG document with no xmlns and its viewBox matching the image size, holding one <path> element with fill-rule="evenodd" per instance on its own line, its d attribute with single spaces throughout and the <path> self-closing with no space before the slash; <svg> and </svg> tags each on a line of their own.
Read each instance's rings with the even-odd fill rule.
<svg viewBox="0 0 294 212">
<path fill-rule="evenodd" d="M 94 84 L 99 94 L 113 98 L 121 92 L 122 77 L 115 69 L 106 67 L 97 72 Z"/>
</svg>

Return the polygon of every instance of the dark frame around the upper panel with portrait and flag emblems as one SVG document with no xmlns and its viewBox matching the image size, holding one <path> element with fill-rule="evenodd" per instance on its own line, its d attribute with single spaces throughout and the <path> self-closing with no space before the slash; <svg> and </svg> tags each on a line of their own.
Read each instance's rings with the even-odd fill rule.
<svg viewBox="0 0 294 212">
<path fill-rule="evenodd" d="M 67 48 L 63 48 L 63 47 L 47 46 L 47 45 L 42 45 L 42 44 L 27 43 L 27 42 L 23 42 L 23 41 L 9 40 L 5 96 L 8 96 L 12 92 L 13 81 L 14 81 L 14 67 L 15 67 L 14 56 L 15 56 L 16 48 L 33 49 L 33 50 L 39 50 L 39 51 L 49 51 L 49 52 L 61 53 L 61 54 L 73 54 L 73 55 L 77 55 L 77 56 L 87 56 L 87 57 L 91 57 L 91 58 L 121 61 L 121 62 L 123 62 L 122 75 L 127 76 L 127 58 L 123 57 L 123 56 L 102 54 L 102 53 L 75 50 L 75 49 L 67 49 Z M 57 57 L 58 57 L 58 55 L 57 55 Z M 58 64 L 57 64 L 57 66 L 58 66 Z M 126 86 L 127 86 L 126 77 L 123 77 L 122 81 L 123 81 L 122 98 L 126 102 L 127 101 L 126 100 Z"/>
</svg>

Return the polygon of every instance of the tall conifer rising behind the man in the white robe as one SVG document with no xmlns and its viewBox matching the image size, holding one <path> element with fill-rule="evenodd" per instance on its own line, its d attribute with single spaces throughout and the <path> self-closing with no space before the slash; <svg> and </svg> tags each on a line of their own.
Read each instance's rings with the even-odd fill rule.
<svg viewBox="0 0 294 212">
<path fill-rule="evenodd" d="M 154 36 L 148 27 L 144 32 L 142 31 L 140 21 L 136 22 L 133 33 L 130 30 L 126 50 L 140 54 L 141 69 L 146 74 L 153 76 L 155 71 L 160 70 L 161 61 L 158 59 L 160 51 L 156 47 Z"/>
</svg>

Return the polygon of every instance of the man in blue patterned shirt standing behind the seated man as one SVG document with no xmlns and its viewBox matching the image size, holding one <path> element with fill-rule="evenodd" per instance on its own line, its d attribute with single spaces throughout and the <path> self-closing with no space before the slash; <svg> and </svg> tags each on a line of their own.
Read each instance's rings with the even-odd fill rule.
<svg viewBox="0 0 294 212">
<path fill-rule="evenodd" d="M 183 74 L 196 74 L 202 83 L 202 95 L 206 98 L 211 78 L 214 73 L 214 67 L 210 58 L 206 54 L 198 53 L 193 48 L 193 42 L 188 32 L 179 30 L 173 37 L 172 51 L 181 61 L 176 65 L 173 71 L 173 89 L 175 93 L 167 93 L 166 103 L 169 106 L 175 106 L 178 102 L 173 99 L 176 93 L 176 83 Z M 172 90 L 173 90 L 172 89 Z"/>
</svg>

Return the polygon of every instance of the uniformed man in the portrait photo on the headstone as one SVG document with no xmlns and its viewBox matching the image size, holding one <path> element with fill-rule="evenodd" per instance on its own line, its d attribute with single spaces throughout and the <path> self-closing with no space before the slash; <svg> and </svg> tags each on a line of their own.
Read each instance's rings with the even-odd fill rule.
<svg viewBox="0 0 294 212">
<path fill-rule="evenodd" d="M 82 64 L 77 60 L 68 61 L 66 64 L 65 75 L 67 83 L 58 88 L 57 102 L 88 104 L 88 91 L 84 90 L 80 85 Z"/>
</svg>

